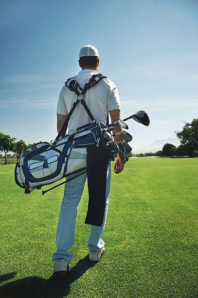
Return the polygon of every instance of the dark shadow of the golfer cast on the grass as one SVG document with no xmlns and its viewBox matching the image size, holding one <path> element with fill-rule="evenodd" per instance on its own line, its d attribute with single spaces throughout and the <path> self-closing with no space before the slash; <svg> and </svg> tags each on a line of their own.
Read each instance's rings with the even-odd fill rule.
<svg viewBox="0 0 198 298">
<path fill-rule="evenodd" d="M 72 267 L 70 276 L 66 278 L 26 277 L 15 280 L 0 287 L 0 298 L 63 298 L 69 294 L 72 282 L 79 279 L 94 264 L 89 261 L 89 256 L 87 256 Z M 16 274 L 16 272 L 12 272 L 0 276 L 0 282 L 13 279 Z"/>
</svg>

